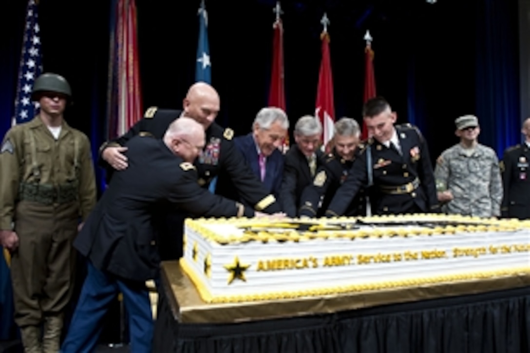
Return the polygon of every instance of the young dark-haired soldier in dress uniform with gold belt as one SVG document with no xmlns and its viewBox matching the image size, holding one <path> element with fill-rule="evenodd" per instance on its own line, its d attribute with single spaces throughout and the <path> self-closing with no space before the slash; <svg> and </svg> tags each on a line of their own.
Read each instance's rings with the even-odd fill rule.
<svg viewBox="0 0 530 353">
<path fill-rule="evenodd" d="M 394 126 L 396 114 L 382 97 L 368 100 L 364 121 L 372 136 L 354 161 L 326 216 L 341 216 L 363 186 L 371 184 L 374 214 L 439 211 L 427 142 L 417 127 Z"/>
</svg>

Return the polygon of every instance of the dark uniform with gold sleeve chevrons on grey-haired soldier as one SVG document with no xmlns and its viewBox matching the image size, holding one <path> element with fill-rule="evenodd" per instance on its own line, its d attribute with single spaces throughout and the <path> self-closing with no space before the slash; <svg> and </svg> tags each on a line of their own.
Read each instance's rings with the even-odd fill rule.
<svg viewBox="0 0 530 353">
<path fill-rule="evenodd" d="M 333 153 L 324 158 L 324 163 L 316 170 L 313 184 L 308 185 L 302 192 L 298 216 L 321 217 L 328 208 L 333 196 L 348 177 L 359 151 L 364 146 L 359 145 L 355 151 L 354 159 L 347 161 L 334 149 Z M 345 216 L 365 216 L 366 200 L 365 190 L 361 189 L 348 205 Z M 321 206 L 319 207 L 320 202 Z"/>
</svg>

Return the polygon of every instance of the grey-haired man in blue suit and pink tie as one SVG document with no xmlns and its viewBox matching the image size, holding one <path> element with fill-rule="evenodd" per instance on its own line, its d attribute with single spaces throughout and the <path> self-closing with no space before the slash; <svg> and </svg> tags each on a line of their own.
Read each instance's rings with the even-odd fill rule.
<svg viewBox="0 0 530 353">
<path fill-rule="evenodd" d="M 267 191 L 279 199 L 281 178 L 284 173 L 284 155 L 278 149 L 287 135 L 289 120 L 280 108 L 261 109 L 252 133 L 234 138 L 234 144 L 245 158 L 250 169 L 261 180 Z M 225 197 L 237 194 L 237 188 L 227 175 L 221 175 L 216 193 Z M 244 199 L 240 197 L 244 202 Z"/>
</svg>

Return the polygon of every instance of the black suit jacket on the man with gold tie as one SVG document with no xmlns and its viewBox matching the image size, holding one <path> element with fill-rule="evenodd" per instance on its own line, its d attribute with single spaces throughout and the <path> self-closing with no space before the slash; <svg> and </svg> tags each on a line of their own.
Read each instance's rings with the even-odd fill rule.
<svg viewBox="0 0 530 353">
<path fill-rule="evenodd" d="M 317 149 L 316 168 L 324 163 L 324 153 Z M 313 182 L 307 157 L 297 145 L 292 145 L 285 155 L 284 177 L 281 182 L 281 208 L 289 217 L 296 217 L 304 188 Z"/>
</svg>

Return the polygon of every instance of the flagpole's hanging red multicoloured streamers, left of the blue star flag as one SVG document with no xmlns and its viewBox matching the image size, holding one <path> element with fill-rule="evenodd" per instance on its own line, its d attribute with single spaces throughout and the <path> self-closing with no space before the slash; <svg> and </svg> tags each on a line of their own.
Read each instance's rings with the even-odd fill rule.
<svg viewBox="0 0 530 353">
<path fill-rule="evenodd" d="M 135 0 L 112 2 L 108 137 L 123 135 L 143 116 Z"/>
</svg>

